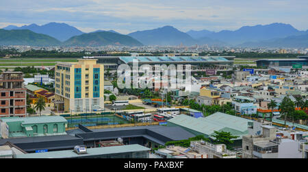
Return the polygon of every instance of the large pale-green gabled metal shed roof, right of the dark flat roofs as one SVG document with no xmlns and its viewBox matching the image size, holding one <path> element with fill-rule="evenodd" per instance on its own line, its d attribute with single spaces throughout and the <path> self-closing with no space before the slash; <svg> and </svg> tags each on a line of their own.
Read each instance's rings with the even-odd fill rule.
<svg viewBox="0 0 308 172">
<path fill-rule="evenodd" d="M 206 134 L 207 136 L 214 134 L 214 131 L 231 132 L 235 136 L 240 136 L 237 139 L 241 139 L 243 135 L 248 134 L 247 128 L 249 121 L 251 120 L 222 112 L 216 112 L 205 118 L 198 119 L 181 114 L 168 120 L 170 123 L 175 123 L 190 130 Z"/>
</svg>

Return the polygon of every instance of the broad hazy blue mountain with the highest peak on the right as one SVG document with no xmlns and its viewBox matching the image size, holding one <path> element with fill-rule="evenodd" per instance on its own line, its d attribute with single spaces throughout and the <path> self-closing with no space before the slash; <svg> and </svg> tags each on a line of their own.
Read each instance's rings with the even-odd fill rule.
<svg viewBox="0 0 308 172">
<path fill-rule="evenodd" d="M 238 45 L 248 41 L 269 40 L 272 38 L 285 38 L 304 34 L 292 25 L 283 23 L 272 23 L 270 25 L 244 26 L 238 30 L 222 30 L 208 34 L 207 37 L 227 42 L 231 45 Z"/>
</svg>

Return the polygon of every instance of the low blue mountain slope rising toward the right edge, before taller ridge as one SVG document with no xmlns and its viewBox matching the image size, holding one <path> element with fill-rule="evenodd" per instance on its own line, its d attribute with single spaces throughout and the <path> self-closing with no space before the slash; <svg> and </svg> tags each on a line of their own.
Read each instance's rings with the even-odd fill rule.
<svg viewBox="0 0 308 172">
<path fill-rule="evenodd" d="M 288 36 L 286 38 L 276 38 L 262 40 L 258 42 L 245 42 L 238 45 L 240 47 L 287 47 L 287 48 L 308 48 L 308 34 L 300 36 Z"/>
</svg>

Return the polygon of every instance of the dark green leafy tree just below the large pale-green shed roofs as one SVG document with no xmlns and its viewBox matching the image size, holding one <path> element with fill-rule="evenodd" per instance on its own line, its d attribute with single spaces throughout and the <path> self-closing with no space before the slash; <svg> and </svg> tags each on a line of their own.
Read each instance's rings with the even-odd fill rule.
<svg viewBox="0 0 308 172">
<path fill-rule="evenodd" d="M 214 131 L 214 134 L 212 136 L 215 138 L 214 143 L 215 144 L 224 144 L 227 146 L 228 149 L 231 148 L 231 145 L 234 143 L 234 140 L 231 140 L 233 138 L 238 138 L 238 136 L 233 136 L 230 132 L 218 132 Z"/>
</svg>

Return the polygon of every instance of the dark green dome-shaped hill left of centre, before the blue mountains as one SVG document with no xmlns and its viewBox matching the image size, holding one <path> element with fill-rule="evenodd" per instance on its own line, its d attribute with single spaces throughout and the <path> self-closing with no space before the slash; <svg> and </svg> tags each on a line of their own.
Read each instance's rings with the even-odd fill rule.
<svg viewBox="0 0 308 172">
<path fill-rule="evenodd" d="M 66 46 L 105 46 L 105 45 L 125 45 L 125 46 L 141 46 L 138 40 L 131 36 L 123 34 L 115 34 L 112 32 L 94 32 L 73 36 L 63 42 Z"/>
</svg>

